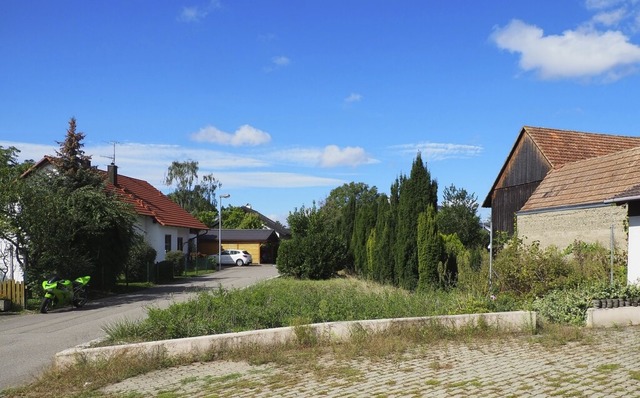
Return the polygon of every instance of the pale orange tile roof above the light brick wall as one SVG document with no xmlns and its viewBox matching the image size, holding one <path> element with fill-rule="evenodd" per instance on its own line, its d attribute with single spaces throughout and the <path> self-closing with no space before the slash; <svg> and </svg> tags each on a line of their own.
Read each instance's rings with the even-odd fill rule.
<svg viewBox="0 0 640 398">
<path fill-rule="evenodd" d="M 551 170 L 521 211 L 604 203 L 637 196 L 640 147 Z"/>
</svg>

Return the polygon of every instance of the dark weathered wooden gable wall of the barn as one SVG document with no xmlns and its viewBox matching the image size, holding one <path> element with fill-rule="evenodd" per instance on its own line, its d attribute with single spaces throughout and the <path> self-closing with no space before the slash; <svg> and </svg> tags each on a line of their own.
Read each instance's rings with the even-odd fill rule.
<svg viewBox="0 0 640 398">
<path fill-rule="evenodd" d="M 492 192 L 494 232 L 513 234 L 515 213 L 524 206 L 550 169 L 551 165 L 533 140 L 528 134 L 523 134 Z"/>
</svg>

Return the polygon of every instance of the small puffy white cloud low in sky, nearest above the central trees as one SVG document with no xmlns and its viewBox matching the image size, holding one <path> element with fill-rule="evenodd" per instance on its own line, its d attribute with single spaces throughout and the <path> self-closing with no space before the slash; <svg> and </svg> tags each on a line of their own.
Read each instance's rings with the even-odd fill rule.
<svg viewBox="0 0 640 398">
<path fill-rule="evenodd" d="M 291 163 L 298 163 L 315 167 L 356 167 L 363 164 L 378 163 L 361 147 L 344 147 L 327 145 L 324 148 L 294 148 L 280 151 L 276 157 Z"/>
</svg>

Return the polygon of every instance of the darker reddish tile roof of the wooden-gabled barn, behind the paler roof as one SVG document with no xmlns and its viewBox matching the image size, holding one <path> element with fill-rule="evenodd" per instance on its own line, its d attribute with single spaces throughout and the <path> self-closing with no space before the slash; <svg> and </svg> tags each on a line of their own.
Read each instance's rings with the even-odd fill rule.
<svg viewBox="0 0 640 398">
<path fill-rule="evenodd" d="M 640 137 L 525 126 L 551 167 L 640 146 Z"/>
</svg>

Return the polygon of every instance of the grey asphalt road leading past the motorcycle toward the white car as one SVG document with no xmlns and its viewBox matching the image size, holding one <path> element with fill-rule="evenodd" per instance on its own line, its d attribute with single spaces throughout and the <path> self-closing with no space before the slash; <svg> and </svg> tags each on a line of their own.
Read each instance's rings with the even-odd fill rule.
<svg viewBox="0 0 640 398">
<path fill-rule="evenodd" d="M 277 275 L 271 265 L 225 267 L 139 293 L 90 301 L 80 309 L 68 307 L 48 314 L 0 313 L 0 391 L 33 380 L 51 365 L 57 352 L 104 337 L 104 326 L 144 318 L 149 306 L 165 308 L 201 289 L 243 288 Z"/>
</svg>

